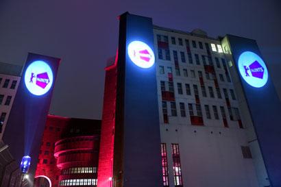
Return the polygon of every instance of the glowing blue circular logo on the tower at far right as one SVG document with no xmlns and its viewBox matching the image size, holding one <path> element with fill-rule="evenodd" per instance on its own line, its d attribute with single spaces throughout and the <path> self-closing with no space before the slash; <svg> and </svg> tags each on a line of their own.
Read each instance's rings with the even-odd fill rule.
<svg viewBox="0 0 281 187">
<path fill-rule="evenodd" d="M 260 88 L 267 84 L 268 71 L 265 62 L 256 53 L 245 51 L 239 56 L 239 72 L 247 84 Z"/>
</svg>

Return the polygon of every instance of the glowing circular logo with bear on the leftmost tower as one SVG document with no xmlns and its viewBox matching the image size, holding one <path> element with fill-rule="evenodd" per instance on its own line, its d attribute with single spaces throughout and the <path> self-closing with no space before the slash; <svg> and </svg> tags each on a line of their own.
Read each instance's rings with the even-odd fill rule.
<svg viewBox="0 0 281 187">
<path fill-rule="evenodd" d="M 53 84 L 53 72 L 43 61 L 34 61 L 25 71 L 25 86 L 33 95 L 44 95 Z"/>
</svg>

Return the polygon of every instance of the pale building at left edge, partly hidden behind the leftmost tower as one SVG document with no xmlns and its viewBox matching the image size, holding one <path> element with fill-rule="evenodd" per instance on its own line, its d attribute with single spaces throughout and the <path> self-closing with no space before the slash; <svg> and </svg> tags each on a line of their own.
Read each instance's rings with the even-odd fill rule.
<svg viewBox="0 0 281 187">
<path fill-rule="evenodd" d="M 21 80 L 22 68 L 22 66 L 0 62 L 0 140 Z"/>
</svg>

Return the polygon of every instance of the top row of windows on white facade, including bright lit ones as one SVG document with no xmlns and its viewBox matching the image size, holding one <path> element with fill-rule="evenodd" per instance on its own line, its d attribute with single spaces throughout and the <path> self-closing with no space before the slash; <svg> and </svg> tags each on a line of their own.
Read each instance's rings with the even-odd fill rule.
<svg viewBox="0 0 281 187">
<path fill-rule="evenodd" d="M 168 36 L 158 34 L 157 41 L 169 43 L 169 38 L 168 38 Z M 173 36 L 171 36 L 171 44 L 177 45 L 175 37 L 173 37 Z M 190 46 L 189 40 L 185 39 L 185 44 L 186 44 L 186 47 L 189 47 Z M 195 49 L 197 48 L 197 42 L 195 40 L 192 40 L 191 44 L 192 44 L 193 48 L 195 48 Z M 178 38 L 178 45 L 180 45 L 180 46 L 184 45 L 182 38 Z M 208 43 L 205 43 L 205 45 L 208 45 Z M 198 41 L 198 47 L 199 47 L 199 49 L 204 49 L 203 42 Z M 211 48 L 212 48 L 212 51 L 219 52 L 219 53 L 223 52 L 221 45 L 217 45 L 217 47 L 216 47 L 216 45 L 212 43 Z"/>
</svg>

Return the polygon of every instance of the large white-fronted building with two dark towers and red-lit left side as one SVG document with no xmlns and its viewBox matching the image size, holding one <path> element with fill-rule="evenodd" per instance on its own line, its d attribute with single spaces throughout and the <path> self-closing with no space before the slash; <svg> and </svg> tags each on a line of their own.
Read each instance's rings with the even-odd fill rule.
<svg viewBox="0 0 281 187">
<path fill-rule="evenodd" d="M 280 101 L 256 42 L 158 27 L 127 12 L 119 20 L 98 187 L 278 186 Z"/>
</svg>

